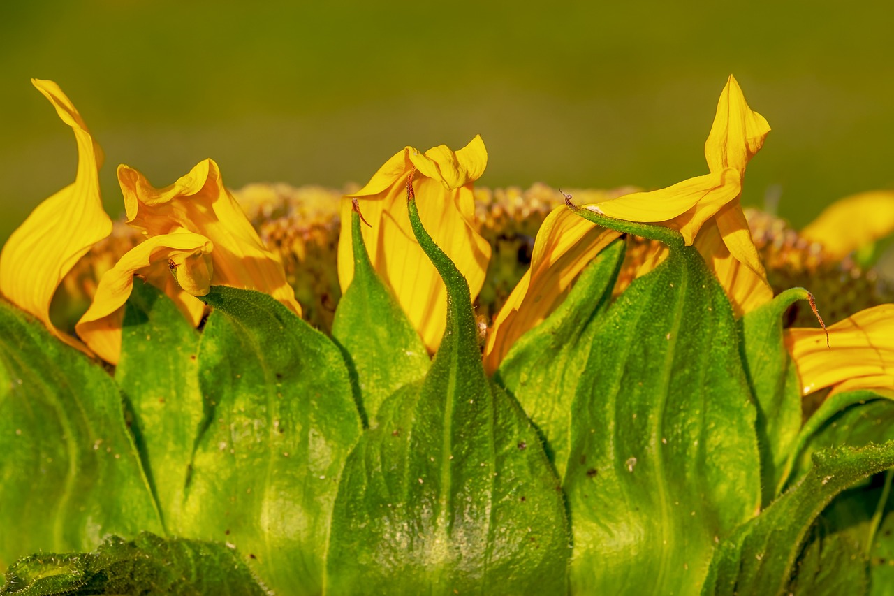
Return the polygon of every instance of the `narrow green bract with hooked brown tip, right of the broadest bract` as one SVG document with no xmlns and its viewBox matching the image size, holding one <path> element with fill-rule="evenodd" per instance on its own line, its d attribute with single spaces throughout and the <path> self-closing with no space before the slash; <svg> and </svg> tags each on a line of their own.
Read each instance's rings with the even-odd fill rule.
<svg viewBox="0 0 894 596">
<path fill-rule="evenodd" d="M 794 302 L 810 299 L 805 289 L 793 288 L 739 321 L 742 359 L 757 403 L 763 507 L 782 490 L 783 469 L 801 429 L 801 382 L 782 340 L 782 314 Z"/>
</svg>

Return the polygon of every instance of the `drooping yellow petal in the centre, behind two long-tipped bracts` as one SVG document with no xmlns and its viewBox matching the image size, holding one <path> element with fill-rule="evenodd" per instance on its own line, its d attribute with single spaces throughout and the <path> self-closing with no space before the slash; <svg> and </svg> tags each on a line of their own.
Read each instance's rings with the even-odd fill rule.
<svg viewBox="0 0 894 596">
<path fill-rule="evenodd" d="M 432 352 L 444 331 L 447 291 L 409 226 L 407 177 L 416 170 L 413 190 L 419 217 L 434 242 L 466 277 L 475 300 L 485 282 L 491 247 L 478 234 L 472 183 L 484 174 L 486 165 L 487 151 L 479 136 L 458 151 L 440 145 L 423 154 L 407 147 L 385 162 L 366 186 L 342 199 L 338 247 L 342 292 L 354 275 L 350 209 L 351 201 L 358 199 L 369 223 L 363 229 L 369 259 Z"/>
</svg>

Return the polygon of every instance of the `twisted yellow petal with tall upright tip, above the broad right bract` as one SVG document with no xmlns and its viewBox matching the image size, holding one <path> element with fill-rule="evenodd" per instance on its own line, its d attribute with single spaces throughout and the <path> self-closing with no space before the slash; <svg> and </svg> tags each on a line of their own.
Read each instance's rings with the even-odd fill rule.
<svg viewBox="0 0 894 596">
<path fill-rule="evenodd" d="M 671 227 L 695 244 L 739 315 L 772 298 L 763 264 L 739 204 L 748 161 L 770 125 L 746 103 L 730 75 L 717 104 L 704 158 L 711 173 L 653 192 L 586 205 L 608 217 Z M 657 262 L 657 260 L 656 260 Z"/>
</svg>

